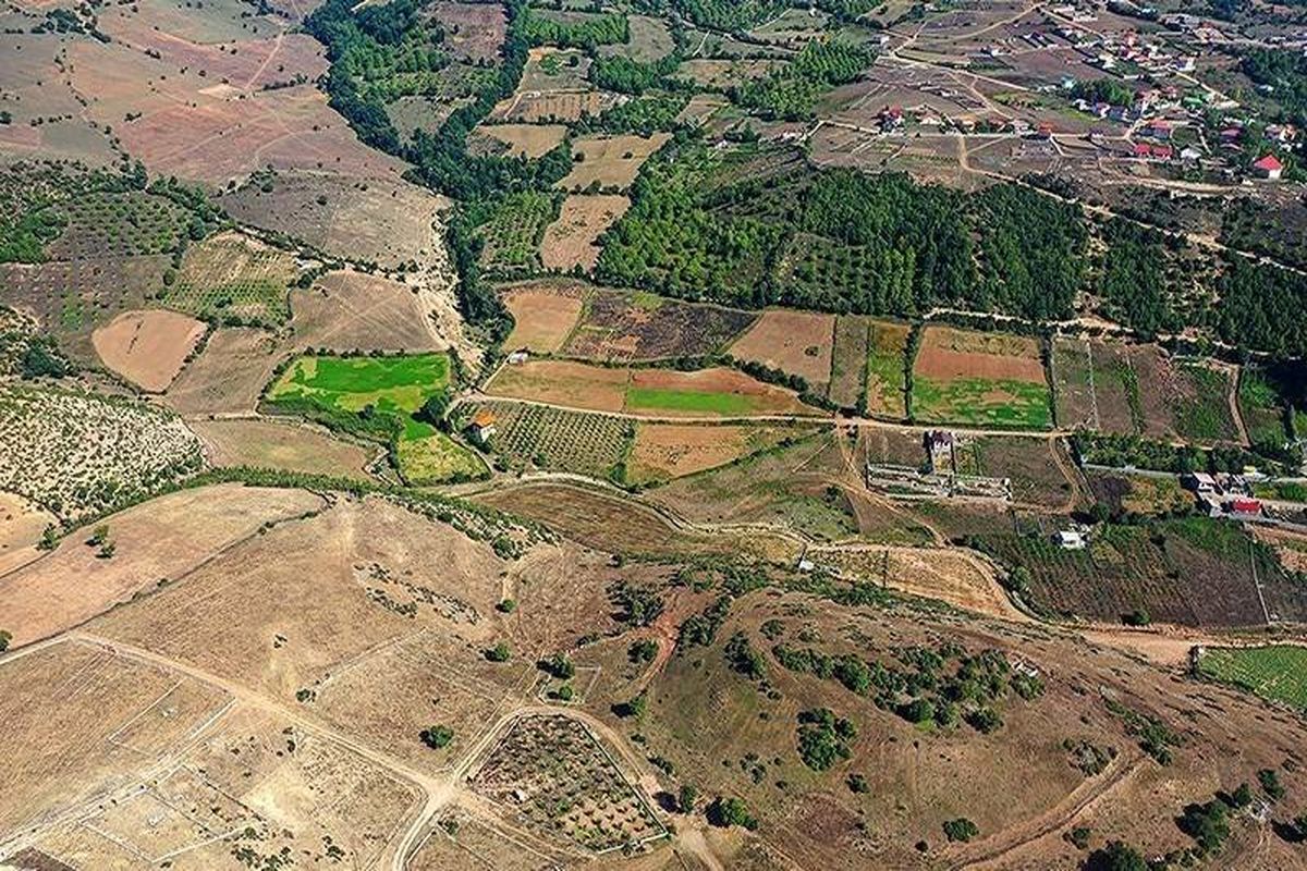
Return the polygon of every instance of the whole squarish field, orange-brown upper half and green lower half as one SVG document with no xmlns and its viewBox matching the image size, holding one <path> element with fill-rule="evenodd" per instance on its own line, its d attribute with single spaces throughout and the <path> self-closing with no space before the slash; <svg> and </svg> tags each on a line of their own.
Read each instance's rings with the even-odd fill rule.
<svg viewBox="0 0 1307 871">
<path fill-rule="evenodd" d="M 912 367 L 912 415 L 925 423 L 1048 428 L 1052 413 L 1039 343 L 928 326 Z"/>
</svg>

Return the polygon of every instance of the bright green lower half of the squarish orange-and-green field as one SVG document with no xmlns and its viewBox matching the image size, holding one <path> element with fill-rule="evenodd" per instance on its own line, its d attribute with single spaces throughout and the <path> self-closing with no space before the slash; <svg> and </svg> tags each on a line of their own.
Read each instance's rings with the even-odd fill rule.
<svg viewBox="0 0 1307 871">
<path fill-rule="evenodd" d="M 1052 426 L 1048 387 L 1031 381 L 957 379 L 912 380 L 912 414 L 925 423 L 962 423 L 1019 430 Z"/>
</svg>

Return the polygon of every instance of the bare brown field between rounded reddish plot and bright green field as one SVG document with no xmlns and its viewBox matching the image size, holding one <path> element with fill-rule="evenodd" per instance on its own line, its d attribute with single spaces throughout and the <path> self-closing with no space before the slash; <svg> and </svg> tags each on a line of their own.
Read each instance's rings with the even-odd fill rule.
<svg viewBox="0 0 1307 871">
<path fill-rule="evenodd" d="M 281 342 L 273 333 L 220 326 L 163 401 L 186 415 L 252 414 L 280 360 Z"/>
</svg>

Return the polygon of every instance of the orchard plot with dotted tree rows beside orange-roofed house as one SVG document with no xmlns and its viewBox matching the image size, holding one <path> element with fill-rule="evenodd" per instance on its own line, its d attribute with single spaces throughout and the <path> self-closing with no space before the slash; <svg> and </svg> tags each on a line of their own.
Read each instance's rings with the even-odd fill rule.
<svg viewBox="0 0 1307 871">
<path fill-rule="evenodd" d="M 495 417 L 495 453 L 520 467 L 620 478 L 630 451 L 631 422 L 622 418 L 520 402 L 485 402 L 477 409 Z"/>
</svg>

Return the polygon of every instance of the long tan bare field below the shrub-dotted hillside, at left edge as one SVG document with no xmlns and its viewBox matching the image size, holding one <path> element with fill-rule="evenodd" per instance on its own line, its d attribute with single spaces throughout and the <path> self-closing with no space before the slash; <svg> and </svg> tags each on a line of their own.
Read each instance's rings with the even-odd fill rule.
<svg viewBox="0 0 1307 871">
<path fill-rule="evenodd" d="M 303 490 L 217 484 L 161 496 L 111 516 L 111 558 L 68 535 L 35 563 L 0 578 L 0 612 L 14 644 L 46 639 L 120 602 L 176 581 L 235 543 L 324 505 Z"/>
</svg>

